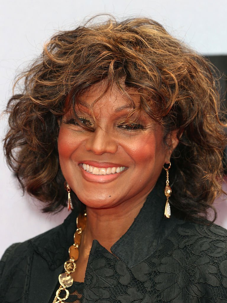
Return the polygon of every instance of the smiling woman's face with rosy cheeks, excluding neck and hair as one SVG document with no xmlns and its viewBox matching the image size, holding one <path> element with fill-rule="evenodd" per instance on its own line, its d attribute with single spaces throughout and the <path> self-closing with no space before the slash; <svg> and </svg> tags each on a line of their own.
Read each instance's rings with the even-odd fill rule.
<svg viewBox="0 0 227 303">
<path fill-rule="evenodd" d="M 78 98 L 77 115 L 94 132 L 77 125 L 72 113 L 64 115 L 58 136 L 58 152 L 64 178 L 87 206 L 110 208 L 146 200 L 170 151 L 163 143 L 163 128 L 143 113 L 138 121 L 126 117 L 132 110 L 117 88 L 94 105 L 95 124 L 89 106 L 101 93 L 94 85 Z M 128 93 L 138 106 L 139 95 Z M 134 94 L 133 94 L 134 93 Z"/>
</svg>

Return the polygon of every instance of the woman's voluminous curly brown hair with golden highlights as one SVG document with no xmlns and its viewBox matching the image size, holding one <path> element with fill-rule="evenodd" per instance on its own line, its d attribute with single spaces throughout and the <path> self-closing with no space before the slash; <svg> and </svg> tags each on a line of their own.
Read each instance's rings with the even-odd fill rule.
<svg viewBox="0 0 227 303">
<path fill-rule="evenodd" d="M 226 145 L 214 73 L 204 57 L 149 18 L 100 23 L 93 18 L 58 32 L 17 80 L 23 91 L 8 102 L 8 165 L 24 190 L 46 202 L 44 211 L 64 207 L 58 119 L 75 108 L 78 94 L 101 80 L 106 89 L 117 84 L 124 93 L 133 87 L 141 110 L 163 125 L 165 134 L 178 132 L 171 204 L 189 220 L 205 220 L 222 191 Z"/>
</svg>

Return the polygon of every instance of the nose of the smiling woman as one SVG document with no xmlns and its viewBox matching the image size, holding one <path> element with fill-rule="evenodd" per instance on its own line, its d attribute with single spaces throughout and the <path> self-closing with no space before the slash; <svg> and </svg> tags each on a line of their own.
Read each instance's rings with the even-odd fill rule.
<svg viewBox="0 0 227 303">
<path fill-rule="evenodd" d="M 110 132 L 97 127 L 94 132 L 89 134 L 85 148 L 87 151 L 92 151 L 96 155 L 102 155 L 104 153 L 114 154 L 117 152 L 118 143 Z"/>
</svg>

